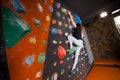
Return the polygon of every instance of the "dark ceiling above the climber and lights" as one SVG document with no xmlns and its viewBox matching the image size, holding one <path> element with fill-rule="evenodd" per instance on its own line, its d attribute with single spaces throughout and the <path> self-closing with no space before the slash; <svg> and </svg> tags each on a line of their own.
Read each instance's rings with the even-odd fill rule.
<svg viewBox="0 0 120 80">
<path fill-rule="evenodd" d="M 120 0 L 61 0 L 67 7 L 77 13 L 83 24 L 91 22 L 102 11 L 111 13 L 120 8 Z"/>
</svg>

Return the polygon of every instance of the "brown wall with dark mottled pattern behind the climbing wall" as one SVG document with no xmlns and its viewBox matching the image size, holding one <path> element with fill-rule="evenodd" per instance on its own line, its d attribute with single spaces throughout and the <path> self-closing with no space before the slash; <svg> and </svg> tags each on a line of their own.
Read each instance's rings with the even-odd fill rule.
<svg viewBox="0 0 120 80">
<path fill-rule="evenodd" d="M 120 38 L 110 16 L 95 18 L 86 31 L 95 59 L 120 59 Z"/>
</svg>

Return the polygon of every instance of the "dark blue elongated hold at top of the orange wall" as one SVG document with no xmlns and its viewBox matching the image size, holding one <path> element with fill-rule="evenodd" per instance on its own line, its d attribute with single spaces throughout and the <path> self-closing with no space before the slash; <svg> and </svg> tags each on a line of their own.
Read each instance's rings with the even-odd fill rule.
<svg viewBox="0 0 120 80">
<path fill-rule="evenodd" d="M 13 8 L 16 12 L 18 13 L 26 13 L 23 5 L 19 2 L 19 0 L 11 0 L 12 1 L 12 5 L 13 5 Z"/>
</svg>

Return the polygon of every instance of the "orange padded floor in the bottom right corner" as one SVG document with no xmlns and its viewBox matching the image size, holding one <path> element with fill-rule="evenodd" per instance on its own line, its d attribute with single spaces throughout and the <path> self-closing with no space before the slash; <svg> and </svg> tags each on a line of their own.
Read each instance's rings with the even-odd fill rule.
<svg viewBox="0 0 120 80">
<path fill-rule="evenodd" d="M 94 66 L 85 80 L 120 80 L 120 68 Z"/>
</svg>

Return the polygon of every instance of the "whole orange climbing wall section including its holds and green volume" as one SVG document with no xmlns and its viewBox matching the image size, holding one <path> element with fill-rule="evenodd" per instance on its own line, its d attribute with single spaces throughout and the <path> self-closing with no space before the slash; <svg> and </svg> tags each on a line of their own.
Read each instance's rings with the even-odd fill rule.
<svg viewBox="0 0 120 80">
<path fill-rule="evenodd" d="M 42 80 L 53 2 L 1 0 L 10 80 Z"/>
</svg>

